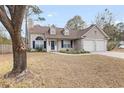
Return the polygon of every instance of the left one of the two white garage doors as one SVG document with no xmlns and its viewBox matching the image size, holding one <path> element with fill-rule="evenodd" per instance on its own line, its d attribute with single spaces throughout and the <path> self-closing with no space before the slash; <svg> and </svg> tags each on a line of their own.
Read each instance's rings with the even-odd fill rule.
<svg viewBox="0 0 124 93">
<path fill-rule="evenodd" d="M 95 43 L 93 40 L 85 40 L 83 42 L 83 48 L 85 51 L 95 51 Z"/>
</svg>

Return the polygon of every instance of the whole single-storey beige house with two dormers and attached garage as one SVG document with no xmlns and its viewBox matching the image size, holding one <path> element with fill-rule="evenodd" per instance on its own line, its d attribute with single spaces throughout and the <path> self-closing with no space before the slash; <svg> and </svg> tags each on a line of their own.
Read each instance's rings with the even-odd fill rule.
<svg viewBox="0 0 124 93">
<path fill-rule="evenodd" d="M 106 51 L 108 35 L 96 25 L 82 31 L 74 31 L 69 28 L 58 28 L 54 25 L 34 25 L 29 28 L 29 48 L 50 51 L 63 49 L 84 49 L 85 51 Z"/>
</svg>

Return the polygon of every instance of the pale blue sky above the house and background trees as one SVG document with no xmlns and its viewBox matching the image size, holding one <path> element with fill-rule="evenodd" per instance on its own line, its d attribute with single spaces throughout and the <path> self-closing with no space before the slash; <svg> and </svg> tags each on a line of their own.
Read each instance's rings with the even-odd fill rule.
<svg viewBox="0 0 124 93">
<path fill-rule="evenodd" d="M 41 16 L 46 19 L 41 22 L 41 25 L 55 24 L 58 27 L 64 27 L 67 21 L 75 15 L 80 15 L 90 25 L 95 16 L 104 12 L 106 8 L 113 13 L 116 22 L 124 21 L 124 12 L 122 11 L 124 6 L 120 5 L 41 5 L 39 7 L 43 11 Z"/>
</svg>

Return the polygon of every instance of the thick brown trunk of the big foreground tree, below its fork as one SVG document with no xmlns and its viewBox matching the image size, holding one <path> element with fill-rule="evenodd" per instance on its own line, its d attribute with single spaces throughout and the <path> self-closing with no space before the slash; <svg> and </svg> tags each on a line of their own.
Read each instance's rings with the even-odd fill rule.
<svg viewBox="0 0 124 93">
<path fill-rule="evenodd" d="M 21 38 L 20 31 L 14 31 L 12 38 L 13 47 L 13 69 L 5 77 L 16 77 L 27 68 L 27 54 L 25 44 Z"/>
</svg>

